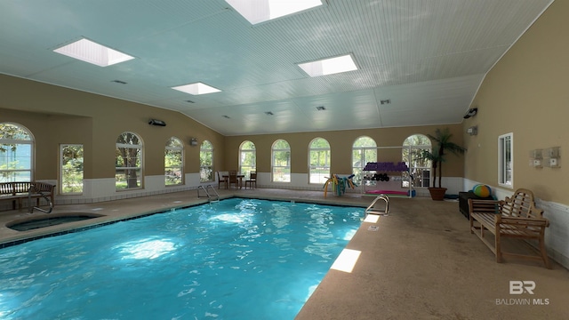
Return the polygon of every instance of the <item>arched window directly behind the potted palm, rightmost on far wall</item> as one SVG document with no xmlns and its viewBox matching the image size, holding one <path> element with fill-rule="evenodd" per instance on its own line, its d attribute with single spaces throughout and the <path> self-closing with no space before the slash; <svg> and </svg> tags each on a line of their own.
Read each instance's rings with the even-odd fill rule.
<svg viewBox="0 0 569 320">
<path fill-rule="evenodd" d="M 409 174 L 413 188 L 429 188 L 430 168 L 429 160 L 421 159 L 422 150 L 431 149 L 429 137 L 422 134 L 413 134 L 403 142 L 402 161 L 409 167 L 409 172 L 403 172 L 403 188 L 409 188 Z"/>
</svg>

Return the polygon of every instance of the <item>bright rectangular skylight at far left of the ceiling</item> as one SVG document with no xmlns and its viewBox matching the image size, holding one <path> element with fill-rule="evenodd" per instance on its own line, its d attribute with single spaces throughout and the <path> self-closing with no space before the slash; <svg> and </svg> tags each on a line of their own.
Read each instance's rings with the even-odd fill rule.
<svg viewBox="0 0 569 320">
<path fill-rule="evenodd" d="M 94 43 L 87 39 L 78 40 L 53 51 L 100 67 L 107 67 L 119 62 L 134 59 L 134 57 L 128 54 L 117 52 L 116 50 Z"/>
</svg>

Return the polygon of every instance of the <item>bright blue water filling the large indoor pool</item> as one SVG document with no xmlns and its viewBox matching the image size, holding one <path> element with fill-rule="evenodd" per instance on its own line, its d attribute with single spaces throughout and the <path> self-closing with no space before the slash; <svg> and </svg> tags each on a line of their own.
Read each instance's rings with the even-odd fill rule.
<svg viewBox="0 0 569 320">
<path fill-rule="evenodd" d="M 228 199 L 0 250 L 2 319 L 293 319 L 362 208 Z"/>
</svg>

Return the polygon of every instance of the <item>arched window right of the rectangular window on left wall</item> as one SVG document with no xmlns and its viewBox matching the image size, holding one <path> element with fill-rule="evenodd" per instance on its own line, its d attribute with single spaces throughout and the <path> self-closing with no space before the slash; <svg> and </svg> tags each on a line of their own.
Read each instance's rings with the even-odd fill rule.
<svg viewBox="0 0 569 320">
<path fill-rule="evenodd" d="M 115 186 L 142 188 L 142 140 L 136 133 L 123 132 L 116 138 Z"/>
</svg>

